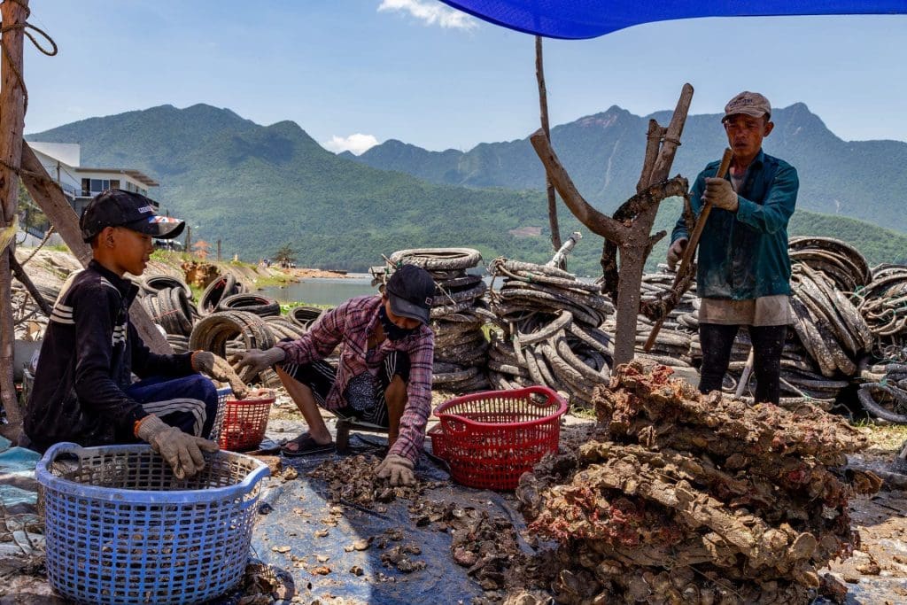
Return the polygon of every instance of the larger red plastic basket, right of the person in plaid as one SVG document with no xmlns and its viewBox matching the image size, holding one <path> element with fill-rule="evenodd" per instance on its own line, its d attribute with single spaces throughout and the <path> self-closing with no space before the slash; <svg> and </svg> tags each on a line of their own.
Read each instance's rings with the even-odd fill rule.
<svg viewBox="0 0 907 605">
<path fill-rule="evenodd" d="M 557 451 L 566 411 L 567 402 L 545 386 L 474 393 L 439 405 L 441 422 L 428 434 L 455 481 L 512 490 L 522 473 Z"/>
</svg>

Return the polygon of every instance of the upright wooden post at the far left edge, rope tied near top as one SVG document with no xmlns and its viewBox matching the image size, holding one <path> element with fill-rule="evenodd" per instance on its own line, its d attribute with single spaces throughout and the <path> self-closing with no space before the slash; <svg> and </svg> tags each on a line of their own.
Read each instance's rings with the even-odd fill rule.
<svg viewBox="0 0 907 605">
<path fill-rule="evenodd" d="M 28 0 L 0 4 L 0 17 L 6 29 L 0 37 L 3 44 L 0 63 L 0 231 L 15 221 L 19 201 L 19 177 L 15 167 L 22 156 L 22 131 L 25 118 L 25 83 L 22 81 L 22 39 L 28 17 Z M 0 400 L 9 423 L 4 431 L 18 441 L 22 430 L 22 410 L 15 398 L 13 379 L 13 277 L 10 259 L 15 253 L 15 233 L 9 246 L 0 249 Z"/>
</svg>

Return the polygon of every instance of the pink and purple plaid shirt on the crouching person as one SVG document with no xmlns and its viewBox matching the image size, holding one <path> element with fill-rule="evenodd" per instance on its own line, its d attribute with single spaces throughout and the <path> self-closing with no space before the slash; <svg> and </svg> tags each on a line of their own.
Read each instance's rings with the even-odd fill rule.
<svg viewBox="0 0 907 605">
<path fill-rule="evenodd" d="M 425 440 L 425 424 L 432 413 L 432 366 L 434 334 L 430 327 L 420 326 L 414 334 L 392 342 L 385 339 L 372 355 L 368 353 L 368 336 L 378 323 L 380 296 L 350 298 L 328 311 L 305 336 L 293 342 L 278 343 L 287 353 L 287 361 L 307 364 L 329 356 L 340 345 L 337 377 L 325 400 L 325 407 L 344 407 L 343 393 L 353 376 L 368 372 L 377 375 L 390 351 L 409 355 L 409 382 L 406 384 L 406 406 L 400 419 L 400 436 L 388 454 L 397 454 L 415 462 Z"/>
</svg>

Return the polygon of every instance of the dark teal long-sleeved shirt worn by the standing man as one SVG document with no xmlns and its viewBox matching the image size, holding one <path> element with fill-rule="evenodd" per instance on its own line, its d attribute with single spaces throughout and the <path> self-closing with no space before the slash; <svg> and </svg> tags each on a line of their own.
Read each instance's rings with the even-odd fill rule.
<svg viewBox="0 0 907 605">
<path fill-rule="evenodd" d="M 719 163 L 713 161 L 699 172 L 690 191 L 697 217 L 706 178 L 715 176 Z M 737 191 L 736 213 L 713 208 L 708 215 L 697 253 L 700 297 L 747 300 L 791 293 L 787 221 L 794 214 L 799 188 L 793 166 L 759 151 Z M 683 217 L 671 233 L 671 243 L 680 238 L 689 238 Z"/>
</svg>

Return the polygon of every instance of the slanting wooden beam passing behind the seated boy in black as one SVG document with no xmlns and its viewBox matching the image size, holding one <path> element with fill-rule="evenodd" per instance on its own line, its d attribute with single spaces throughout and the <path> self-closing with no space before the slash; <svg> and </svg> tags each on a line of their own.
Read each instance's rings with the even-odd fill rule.
<svg viewBox="0 0 907 605">
<path fill-rule="evenodd" d="M 92 247 L 82 240 L 82 231 L 79 229 L 79 219 L 75 215 L 75 210 L 69 205 L 69 201 L 63 195 L 63 190 L 59 185 L 54 183 L 41 161 L 34 155 L 32 148 L 27 142 L 22 144 L 22 181 L 25 189 L 32 196 L 34 203 L 38 205 L 44 214 L 54 225 L 57 233 L 66 242 L 66 246 L 83 267 L 88 266 L 92 259 Z M 145 312 L 145 307 L 139 304 L 132 305 L 129 309 L 129 317 L 132 325 L 138 330 L 139 336 L 145 341 L 145 344 L 155 353 L 172 353 L 173 347 L 163 337 L 151 317 Z"/>
</svg>

